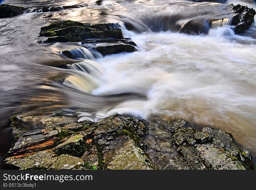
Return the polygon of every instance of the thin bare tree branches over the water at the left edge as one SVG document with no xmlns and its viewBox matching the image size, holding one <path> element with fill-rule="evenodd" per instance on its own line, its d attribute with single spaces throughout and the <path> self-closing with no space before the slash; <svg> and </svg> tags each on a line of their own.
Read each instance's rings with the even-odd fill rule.
<svg viewBox="0 0 256 190">
<path fill-rule="evenodd" d="M 11 41 L 13 40 L 10 37 L 8 37 L 4 40 L 4 42 L 1 42 L 4 36 L 10 36 L 17 32 L 18 30 L 20 30 L 22 22 L 18 21 L 17 19 L 18 16 L 0 20 L 0 46 L 10 44 Z"/>
</svg>

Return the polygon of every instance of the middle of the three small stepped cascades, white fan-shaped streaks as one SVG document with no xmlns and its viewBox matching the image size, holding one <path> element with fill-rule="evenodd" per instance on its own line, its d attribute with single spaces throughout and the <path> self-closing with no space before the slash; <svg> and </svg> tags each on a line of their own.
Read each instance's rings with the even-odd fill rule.
<svg viewBox="0 0 256 190">
<path fill-rule="evenodd" d="M 104 72 L 104 68 L 100 64 L 92 60 L 84 60 L 79 63 L 68 64 L 67 68 L 83 71 L 85 73 L 88 73 L 89 75 L 92 75 L 95 78 L 99 78 Z"/>
</svg>

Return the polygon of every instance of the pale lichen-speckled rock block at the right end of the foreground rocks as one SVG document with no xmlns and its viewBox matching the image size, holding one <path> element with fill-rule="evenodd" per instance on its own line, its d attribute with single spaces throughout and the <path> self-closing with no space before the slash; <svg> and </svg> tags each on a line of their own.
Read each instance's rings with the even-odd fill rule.
<svg viewBox="0 0 256 190">
<path fill-rule="evenodd" d="M 252 162 L 238 158 L 241 150 L 221 129 L 177 128 L 173 140 L 191 169 L 253 169 Z"/>
</svg>

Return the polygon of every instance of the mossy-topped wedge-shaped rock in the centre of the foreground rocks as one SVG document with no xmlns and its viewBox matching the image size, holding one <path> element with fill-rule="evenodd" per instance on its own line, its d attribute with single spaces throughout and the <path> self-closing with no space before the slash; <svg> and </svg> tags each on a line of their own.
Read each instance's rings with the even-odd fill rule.
<svg viewBox="0 0 256 190">
<path fill-rule="evenodd" d="M 111 119 L 110 119 L 111 118 Z M 104 169 L 154 169 L 145 153 L 148 126 L 135 117 L 116 115 L 97 123 L 94 142 Z M 144 149 L 144 150 L 143 150 Z"/>
</svg>

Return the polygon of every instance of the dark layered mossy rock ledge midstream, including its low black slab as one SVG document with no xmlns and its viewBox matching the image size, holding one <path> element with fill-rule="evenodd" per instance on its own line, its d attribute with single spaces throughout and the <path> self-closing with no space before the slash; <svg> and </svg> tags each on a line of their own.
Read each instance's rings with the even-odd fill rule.
<svg viewBox="0 0 256 190">
<path fill-rule="evenodd" d="M 57 21 L 42 27 L 40 36 L 48 37 L 41 43 L 80 42 L 81 46 L 94 49 L 102 55 L 136 51 L 136 44 L 124 38 L 118 23 L 90 24 L 76 21 Z M 70 51 L 64 55 L 74 59 Z"/>
</svg>

